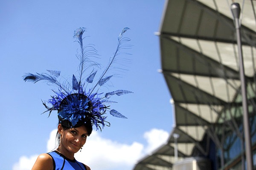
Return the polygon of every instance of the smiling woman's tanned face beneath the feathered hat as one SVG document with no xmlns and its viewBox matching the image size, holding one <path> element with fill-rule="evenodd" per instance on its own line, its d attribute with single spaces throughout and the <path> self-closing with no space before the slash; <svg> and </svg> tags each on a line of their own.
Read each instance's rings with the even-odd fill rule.
<svg viewBox="0 0 256 170">
<path fill-rule="evenodd" d="M 58 132 L 61 134 L 61 150 L 68 153 L 77 153 L 85 144 L 88 136 L 85 126 L 64 130 L 59 124 Z"/>
</svg>

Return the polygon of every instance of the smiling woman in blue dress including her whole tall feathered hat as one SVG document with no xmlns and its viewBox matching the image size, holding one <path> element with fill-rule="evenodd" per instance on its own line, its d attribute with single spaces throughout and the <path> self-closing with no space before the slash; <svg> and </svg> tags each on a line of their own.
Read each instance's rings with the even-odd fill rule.
<svg viewBox="0 0 256 170">
<path fill-rule="evenodd" d="M 109 126 L 110 124 L 106 121 L 106 116 L 103 116 L 107 111 L 115 117 L 126 118 L 115 109 L 109 110 L 109 103 L 114 101 L 109 101 L 108 99 L 112 95 L 119 96 L 131 93 L 130 91 L 116 90 L 107 92 L 105 95 L 102 92 L 98 92 L 99 88 L 113 76 L 108 75 L 108 69 L 113 67 L 113 63 L 118 61 L 119 51 L 122 48 L 127 48 L 123 43 L 128 42 L 129 39 L 122 37 L 127 30 L 128 28 L 122 30 L 118 37 L 115 55 L 112 56 L 110 63 L 96 81 L 94 81 L 94 77 L 96 76 L 96 69 L 99 68 L 99 64 L 90 60 L 93 55 L 97 55 L 96 49 L 91 45 L 83 46 L 82 36 L 85 31 L 84 28 L 77 29 L 74 35 L 80 45 L 81 52 L 76 55 L 80 61 L 79 76 L 73 75 L 72 83 L 59 82 L 59 71 L 47 70 L 48 73 L 28 73 L 23 76 L 24 81 L 36 83 L 43 80 L 47 81 L 48 84 L 58 86 L 57 91 L 52 90 L 55 92 L 55 95 L 52 95 L 48 100 L 52 107 L 49 107 L 45 102 L 43 104 L 47 108 L 45 112 L 49 111 L 49 115 L 53 110 L 58 111 L 59 124 L 57 136 L 59 145 L 57 150 L 39 155 L 32 170 L 90 170 L 90 167 L 87 165 L 76 161 L 74 154 L 85 144 L 87 136 L 92 133 L 92 126 L 94 125 L 96 130 L 102 130 L 105 125 Z M 85 70 L 91 72 L 85 79 L 87 83 L 82 82 Z M 93 85 L 90 86 L 90 84 Z M 106 103 L 108 103 L 108 106 Z"/>
</svg>

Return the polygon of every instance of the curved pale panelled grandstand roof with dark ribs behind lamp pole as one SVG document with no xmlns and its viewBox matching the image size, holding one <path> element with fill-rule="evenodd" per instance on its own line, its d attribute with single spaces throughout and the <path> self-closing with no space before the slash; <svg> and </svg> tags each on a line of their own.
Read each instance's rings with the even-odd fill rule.
<svg viewBox="0 0 256 170">
<path fill-rule="evenodd" d="M 256 1 L 236 2 L 241 6 L 245 76 L 248 82 L 253 82 Z M 205 135 L 221 147 L 216 136 L 222 132 L 216 127 L 227 126 L 241 116 L 241 111 L 237 111 L 241 109 L 239 56 L 230 5 L 230 0 L 166 1 L 159 37 L 162 72 L 175 107 L 175 127 L 166 144 L 142 158 L 134 170 L 172 169 L 173 134 L 179 135 L 178 159 L 192 156 L 195 148 L 207 155 L 208 150 L 202 145 Z M 247 87 L 249 98 L 254 97 L 254 84 Z M 221 112 L 227 112 L 225 117 Z M 236 126 L 232 128 L 236 131 Z"/>
</svg>

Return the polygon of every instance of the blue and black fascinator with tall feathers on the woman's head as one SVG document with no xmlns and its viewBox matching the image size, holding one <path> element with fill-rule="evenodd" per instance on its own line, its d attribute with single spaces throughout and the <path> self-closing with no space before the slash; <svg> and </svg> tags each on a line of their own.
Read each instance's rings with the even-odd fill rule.
<svg viewBox="0 0 256 170">
<path fill-rule="evenodd" d="M 74 32 L 74 38 L 76 38 L 76 42 L 80 45 L 80 52 L 76 55 L 80 63 L 78 70 L 79 75 L 73 75 L 72 82 L 58 81 L 60 71 L 47 70 L 47 73 L 27 73 L 24 75 L 24 81 L 36 83 L 42 80 L 46 81 L 47 84 L 54 84 L 58 87 L 58 90 L 52 90 L 55 95 L 52 95 L 48 100 L 48 104 L 51 104 L 51 106 L 43 102 L 44 106 L 47 108 L 45 112 L 49 112 L 50 115 L 53 110 L 57 110 L 59 123 L 64 126 L 79 127 L 87 121 L 90 121 L 96 126 L 96 130 L 102 130 L 106 123 L 108 126 L 110 125 L 108 121 L 106 121 L 106 112 L 118 118 L 126 118 L 115 109 L 110 109 L 110 106 L 107 104 L 114 102 L 109 100 L 112 95 L 119 96 L 132 92 L 128 90 L 116 90 L 104 94 L 99 93 L 99 89 L 114 75 L 109 75 L 108 72 L 111 68 L 116 68 L 113 65 L 120 59 L 120 50 L 130 47 L 129 45 L 125 45 L 130 39 L 122 37 L 128 29 L 129 28 L 124 28 L 120 33 L 117 49 L 110 58 L 106 69 L 98 76 L 99 78 L 95 78 L 97 77 L 99 64 L 92 60 L 92 58 L 97 55 L 97 51 L 90 44 L 87 46 L 83 45 L 83 33 L 85 32 L 85 28 L 79 28 Z M 89 76 L 84 78 L 84 73 Z M 84 79 L 85 81 L 83 82 Z M 91 84 L 90 88 L 88 88 L 89 84 Z"/>
</svg>

